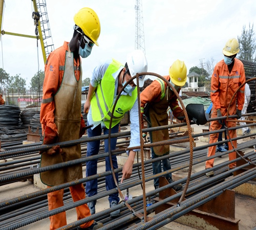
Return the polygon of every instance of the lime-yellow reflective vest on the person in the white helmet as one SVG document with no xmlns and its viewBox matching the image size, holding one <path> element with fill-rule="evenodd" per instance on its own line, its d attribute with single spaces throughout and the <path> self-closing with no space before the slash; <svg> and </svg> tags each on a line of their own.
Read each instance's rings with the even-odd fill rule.
<svg viewBox="0 0 256 230">
<path fill-rule="evenodd" d="M 110 118 L 114 107 L 115 79 L 112 74 L 116 73 L 122 64 L 113 59 L 112 63 L 106 69 L 106 72 L 97 85 L 95 94 L 91 100 L 93 121 L 103 121 L 106 128 L 110 127 Z M 130 110 L 137 99 L 137 87 L 129 95 L 121 95 L 116 103 L 113 112 L 111 127 L 114 127 L 124 117 L 126 111 Z"/>
</svg>

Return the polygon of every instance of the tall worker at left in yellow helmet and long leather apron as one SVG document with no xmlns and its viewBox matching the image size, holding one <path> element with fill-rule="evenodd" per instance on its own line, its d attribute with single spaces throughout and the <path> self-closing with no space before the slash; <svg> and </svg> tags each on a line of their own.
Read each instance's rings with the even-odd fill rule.
<svg viewBox="0 0 256 230">
<path fill-rule="evenodd" d="M 97 14 L 90 8 L 80 9 L 74 16 L 75 26 L 70 42 L 50 53 L 45 65 L 45 80 L 40 110 L 40 122 L 44 135 L 43 144 L 77 140 L 86 125 L 81 115 L 81 58 L 91 54 L 93 45 L 98 45 L 100 22 Z M 81 158 L 80 144 L 53 148 L 41 153 L 41 167 Z M 40 174 L 41 181 L 50 188 L 61 183 L 82 178 L 82 165 L 74 165 Z M 63 189 L 48 193 L 49 210 L 63 206 Z M 71 186 L 70 193 L 75 201 L 86 198 L 82 183 Z M 76 207 L 77 219 L 90 216 L 87 204 Z M 66 213 L 50 217 L 50 229 L 67 224 Z M 91 220 L 77 229 L 98 229 L 102 223 Z"/>
</svg>

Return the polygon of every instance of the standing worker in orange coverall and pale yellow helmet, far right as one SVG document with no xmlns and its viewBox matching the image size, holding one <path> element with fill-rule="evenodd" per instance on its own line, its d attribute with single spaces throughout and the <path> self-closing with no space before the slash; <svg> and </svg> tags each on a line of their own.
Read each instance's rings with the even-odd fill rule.
<svg viewBox="0 0 256 230">
<path fill-rule="evenodd" d="M 241 84 L 245 82 L 245 73 L 243 63 L 236 58 L 239 52 L 239 42 L 236 38 L 231 38 L 225 44 L 222 53 L 224 59 L 218 62 L 211 76 L 211 92 L 210 98 L 213 103 L 211 110 L 211 118 L 227 116 L 227 109 L 232 96 Z M 228 116 L 237 114 L 237 119 L 241 118 L 244 105 L 244 85 L 240 88 L 229 107 Z M 236 104 L 237 101 L 237 104 Z M 212 121 L 210 123 L 210 131 L 221 129 L 222 123 L 228 128 L 236 126 L 237 122 L 229 122 L 228 120 Z M 236 130 L 228 131 L 230 138 L 237 137 Z M 219 133 L 210 134 L 209 144 L 216 143 Z M 237 141 L 232 141 L 234 148 L 237 148 Z M 231 150 L 231 143 L 228 142 L 228 149 Z M 208 148 L 208 157 L 215 155 L 216 146 Z M 229 160 L 236 159 L 236 152 L 228 154 Z M 205 163 L 205 169 L 214 167 L 214 158 L 209 159 Z M 229 164 L 229 169 L 236 168 L 236 162 Z M 214 175 L 214 171 L 206 173 L 207 176 Z"/>
</svg>

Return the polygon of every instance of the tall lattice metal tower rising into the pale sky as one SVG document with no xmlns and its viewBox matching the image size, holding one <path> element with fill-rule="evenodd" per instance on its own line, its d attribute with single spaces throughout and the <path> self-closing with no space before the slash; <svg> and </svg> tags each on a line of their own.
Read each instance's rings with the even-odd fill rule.
<svg viewBox="0 0 256 230">
<path fill-rule="evenodd" d="M 144 38 L 144 29 L 143 29 L 143 15 L 142 15 L 142 0 L 136 0 L 135 5 L 135 17 L 136 17 L 136 26 L 135 26 L 135 49 L 142 50 L 145 54 L 145 38 Z"/>
</svg>

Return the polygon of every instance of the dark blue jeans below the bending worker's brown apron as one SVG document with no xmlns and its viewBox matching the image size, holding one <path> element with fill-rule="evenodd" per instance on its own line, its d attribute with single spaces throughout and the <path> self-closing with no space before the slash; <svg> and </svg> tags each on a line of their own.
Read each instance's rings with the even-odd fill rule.
<svg viewBox="0 0 256 230">
<path fill-rule="evenodd" d="M 162 156 L 168 155 L 169 153 L 165 153 Z M 151 148 L 151 158 L 157 158 L 160 157 L 159 155 L 156 155 L 153 148 Z M 169 170 L 170 169 L 170 161 L 169 159 L 163 159 L 163 160 L 159 160 L 158 162 L 153 162 L 152 163 L 152 168 L 153 168 L 153 174 L 156 175 L 158 173 L 162 172 L 162 166 L 161 163 L 163 164 L 163 171 Z M 168 173 L 165 175 L 166 179 L 172 178 L 172 173 Z M 155 178 L 154 179 L 154 187 L 158 187 L 159 186 L 159 178 Z"/>
</svg>

